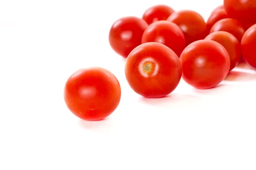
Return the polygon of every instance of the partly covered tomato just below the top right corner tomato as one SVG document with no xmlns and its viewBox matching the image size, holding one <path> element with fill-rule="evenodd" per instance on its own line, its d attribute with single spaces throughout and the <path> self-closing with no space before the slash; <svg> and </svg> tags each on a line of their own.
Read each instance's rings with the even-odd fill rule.
<svg viewBox="0 0 256 170">
<path fill-rule="evenodd" d="M 241 42 L 241 39 L 244 35 L 244 26 L 238 20 L 232 18 L 225 18 L 215 23 L 212 26 L 210 33 L 216 31 L 229 32 L 230 34 L 233 34 L 239 42 Z"/>
</svg>

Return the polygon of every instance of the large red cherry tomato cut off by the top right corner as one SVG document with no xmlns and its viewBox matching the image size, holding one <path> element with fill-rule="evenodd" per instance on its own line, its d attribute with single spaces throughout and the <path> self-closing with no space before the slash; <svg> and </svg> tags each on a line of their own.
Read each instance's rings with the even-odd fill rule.
<svg viewBox="0 0 256 170">
<path fill-rule="evenodd" d="M 256 23 L 256 0 L 224 0 L 227 14 L 242 23 Z"/>
</svg>

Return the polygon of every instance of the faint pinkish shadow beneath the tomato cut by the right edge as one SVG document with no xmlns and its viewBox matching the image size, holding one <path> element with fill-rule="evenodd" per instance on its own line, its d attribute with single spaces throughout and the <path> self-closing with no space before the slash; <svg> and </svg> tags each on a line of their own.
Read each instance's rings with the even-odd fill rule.
<svg viewBox="0 0 256 170">
<path fill-rule="evenodd" d="M 251 82 L 256 81 L 256 71 L 253 70 L 244 70 L 237 71 L 233 70 L 227 75 L 224 79 L 225 81 L 237 81 L 237 82 Z"/>
</svg>

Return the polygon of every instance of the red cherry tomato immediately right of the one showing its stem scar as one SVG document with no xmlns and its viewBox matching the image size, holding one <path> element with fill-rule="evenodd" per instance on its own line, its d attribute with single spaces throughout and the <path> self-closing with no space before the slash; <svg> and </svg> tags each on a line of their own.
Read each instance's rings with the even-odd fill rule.
<svg viewBox="0 0 256 170">
<path fill-rule="evenodd" d="M 180 56 L 182 78 L 198 89 L 213 88 L 230 70 L 227 50 L 218 42 L 198 40 L 188 45 Z"/>
</svg>

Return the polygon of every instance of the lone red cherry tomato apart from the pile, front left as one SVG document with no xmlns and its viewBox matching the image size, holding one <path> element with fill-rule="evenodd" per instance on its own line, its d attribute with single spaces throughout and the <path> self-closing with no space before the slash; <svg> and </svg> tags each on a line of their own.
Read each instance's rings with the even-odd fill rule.
<svg viewBox="0 0 256 170">
<path fill-rule="evenodd" d="M 121 88 L 105 68 L 84 68 L 72 74 L 64 88 L 67 107 L 84 120 L 101 120 L 119 105 Z"/>
</svg>

